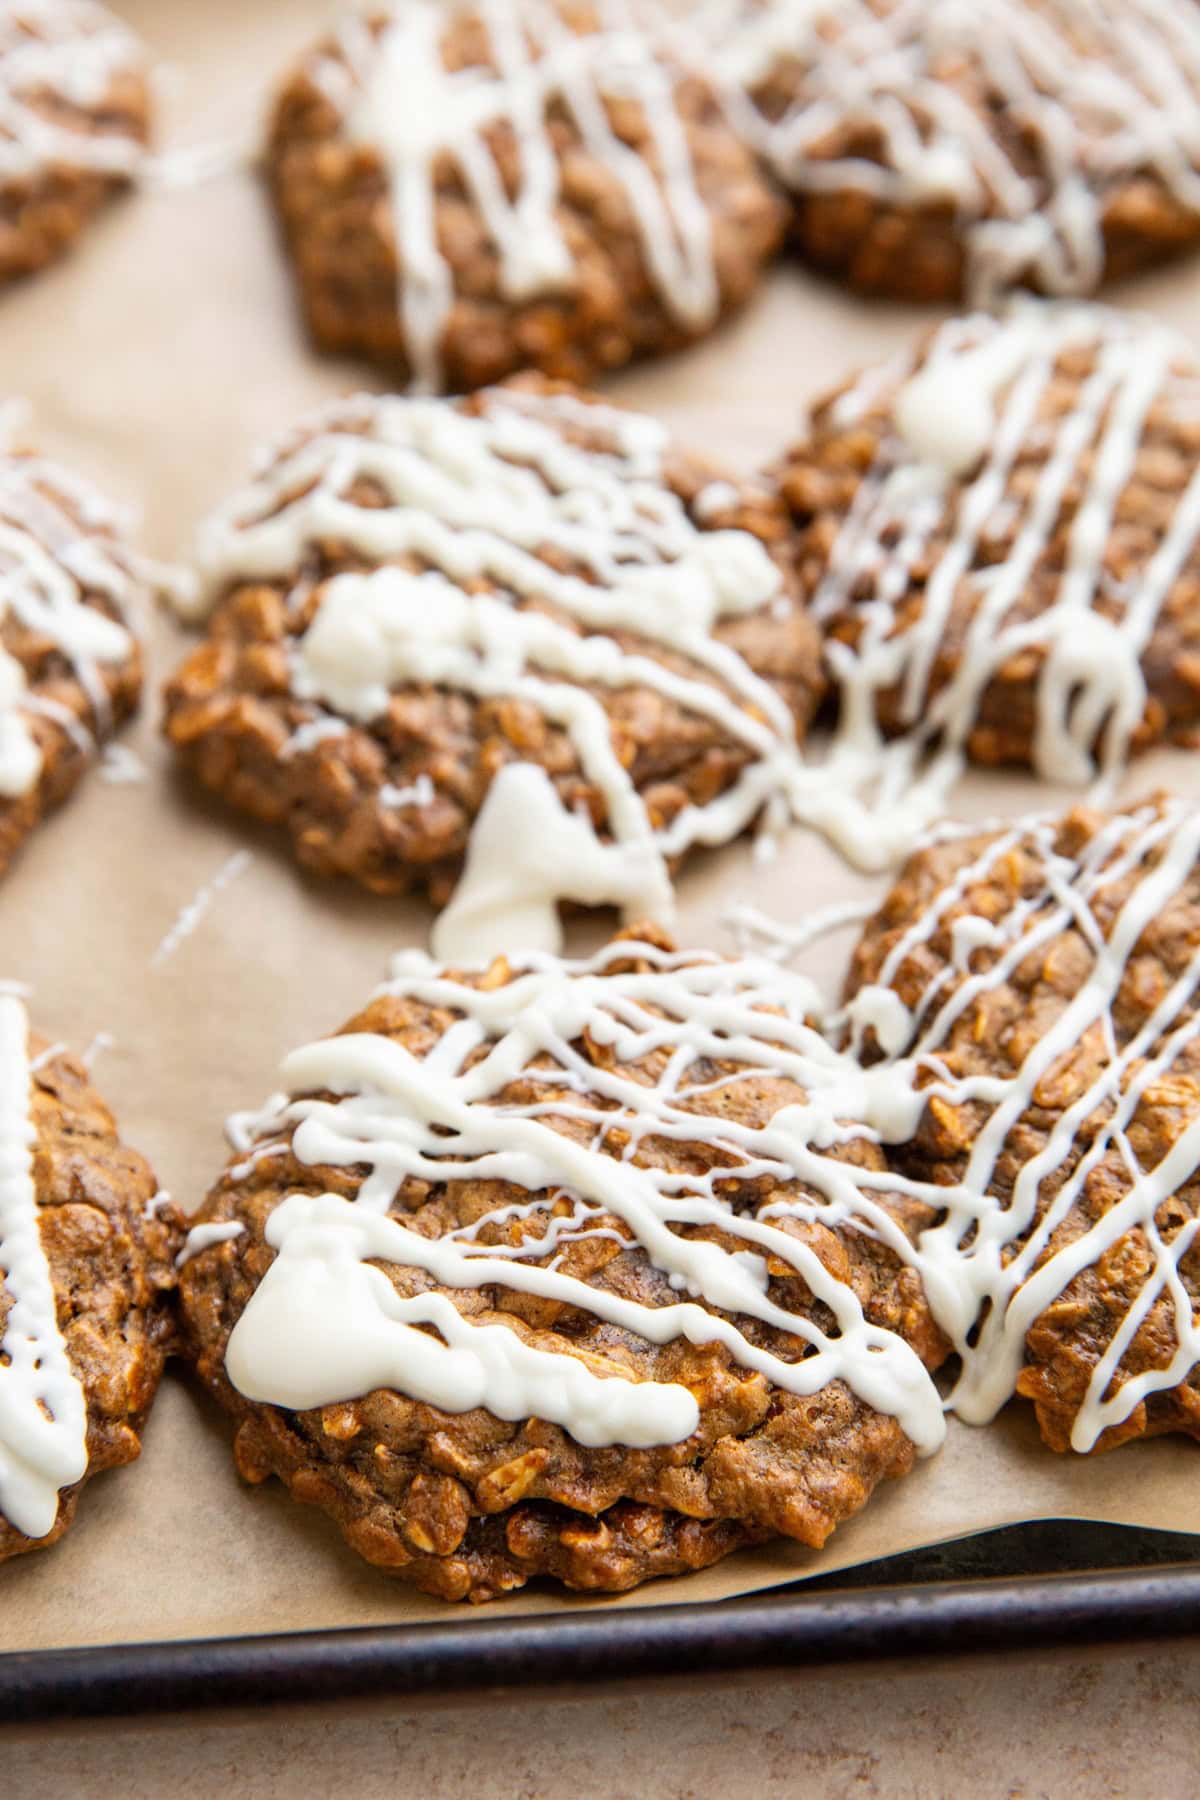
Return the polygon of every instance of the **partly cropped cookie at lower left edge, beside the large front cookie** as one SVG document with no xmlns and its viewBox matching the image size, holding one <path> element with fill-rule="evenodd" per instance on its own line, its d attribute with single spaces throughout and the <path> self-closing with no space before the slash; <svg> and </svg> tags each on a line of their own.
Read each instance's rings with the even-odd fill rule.
<svg viewBox="0 0 1200 1800">
<path fill-rule="evenodd" d="M 56 1543 L 140 1453 L 176 1231 L 88 1073 L 0 994 L 0 1562 Z"/>
</svg>

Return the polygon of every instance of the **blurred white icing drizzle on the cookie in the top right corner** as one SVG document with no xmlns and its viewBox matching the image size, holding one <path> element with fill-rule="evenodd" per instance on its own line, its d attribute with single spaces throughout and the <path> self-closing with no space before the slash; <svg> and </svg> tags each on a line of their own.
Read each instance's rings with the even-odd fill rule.
<svg viewBox="0 0 1200 1800">
<path fill-rule="evenodd" d="M 1112 191 L 1151 173 L 1200 211 L 1200 16 L 1177 0 L 714 0 L 705 41 L 743 133 L 799 191 L 898 207 L 952 202 L 968 284 L 1088 293 Z M 748 99 L 795 59 L 797 97 L 768 121 Z M 1007 124 L 943 79 L 968 70 Z M 826 157 L 840 124 L 880 160 Z M 1022 144 L 1022 162 L 1007 148 Z M 1036 173 L 1024 164 L 1034 144 Z"/>
</svg>

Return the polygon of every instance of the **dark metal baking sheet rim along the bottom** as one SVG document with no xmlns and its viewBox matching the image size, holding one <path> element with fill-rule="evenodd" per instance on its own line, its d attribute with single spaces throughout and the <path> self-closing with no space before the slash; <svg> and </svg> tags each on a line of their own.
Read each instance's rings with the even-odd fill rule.
<svg viewBox="0 0 1200 1800">
<path fill-rule="evenodd" d="M 0 1656 L 0 1723 L 1200 1634 L 1200 1566 Z"/>
</svg>

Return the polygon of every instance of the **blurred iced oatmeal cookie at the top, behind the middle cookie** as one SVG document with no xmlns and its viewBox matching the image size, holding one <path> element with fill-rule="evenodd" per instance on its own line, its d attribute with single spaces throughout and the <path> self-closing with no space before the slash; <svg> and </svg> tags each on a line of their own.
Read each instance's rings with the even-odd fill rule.
<svg viewBox="0 0 1200 1800">
<path fill-rule="evenodd" d="M 615 0 L 405 0 L 286 79 L 266 167 L 324 349 L 464 392 L 707 333 L 784 207 L 709 81 Z"/>
</svg>

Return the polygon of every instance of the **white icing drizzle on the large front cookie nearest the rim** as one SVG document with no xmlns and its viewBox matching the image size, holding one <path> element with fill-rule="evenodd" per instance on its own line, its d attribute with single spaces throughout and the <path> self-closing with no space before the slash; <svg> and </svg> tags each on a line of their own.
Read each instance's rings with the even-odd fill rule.
<svg viewBox="0 0 1200 1800">
<path fill-rule="evenodd" d="M 680 1336 L 721 1343 L 734 1363 L 790 1393 L 846 1381 L 871 1406 L 892 1413 L 921 1451 L 937 1447 L 941 1400 L 916 1354 L 867 1323 L 855 1292 L 774 1222 L 822 1210 L 853 1215 L 860 1204 L 856 1170 L 824 1150 L 846 1136 L 838 1121 L 847 1116 L 867 1121 L 867 1132 L 891 1127 L 907 1076 L 864 1073 L 833 1049 L 804 1022 L 817 1006 L 811 985 L 775 963 L 687 959 L 637 945 L 633 954 L 651 967 L 617 970 L 613 965 L 630 954 L 624 943 L 587 963 L 529 954 L 509 985 L 471 990 L 408 952 L 398 958 L 392 990 L 461 1015 L 425 1057 L 369 1033 L 327 1039 L 288 1057 L 288 1093 L 268 1102 L 257 1120 L 239 1120 L 236 1143 L 270 1154 L 293 1129 L 299 1161 L 365 1165 L 369 1175 L 354 1202 L 293 1193 L 273 1210 L 266 1237 L 277 1256 L 227 1350 L 230 1381 L 243 1393 L 309 1408 L 394 1386 L 448 1411 L 486 1406 L 500 1418 L 549 1418 L 581 1444 L 664 1444 L 694 1429 L 696 1402 L 687 1390 L 592 1375 L 565 1352 L 524 1346 L 506 1327 L 468 1323 L 444 1294 L 401 1300 L 381 1271 L 367 1265 L 378 1258 L 425 1269 L 450 1289 L 500 1283 L 579 1305 L 651 1343 Z M 585 1030 L 612 1046 L 612 1067 L 594 1069 L 574 1049 Z M 655 1085 L 626 1073 L 626 1064 L 657 1046 L 667 1048 L 669 1058 Z M 480 1049 L 486 1055 L 475 1060 Z M 547 1080 L 560 1080 L 561 1071 L 578 1102 L 506 1102 L 504 1089 L 542 1055 L 554 1069 Z M 727 1080 L 788 1076 L 808 1102 L 763 1129 L 689 1111 L 705 1091 L 705 1078 L 693 1076 L 705 1058 L 743 1066 L 741 1076 Z M 338 1098 L 302 1098 L 313 1091 Z M 590 1141 L 554 1130 L 543 1114 L 594 1127 Z M 621 1156 L 601 1148 L 610 1129 L 628 1132 Z M 642 1168 L 633 1157 L 648 1136 L 711 1145 L 716 1166 L 707 1175 Z M 774 1175 L 790 1188 L 802 1181 L 815 1199 L 793 1202 L 777 1193 L 757 1217 L 738 1215 L 714 1183 L 739 1170 Z M 479 1222 L 430 1238 L 389 1217 L 408 1175 L 549 1190 L 569 1210 L 556 1213 L 536 1242 L 489 1246 L 479 1240 Z M 536 1202 L 502 1206 L 491 1217 L 534 1210 Z M 590 1229 L 612 1237 L 603 1217 L 621 1220 L 617 1237 L 640 1246 L 678 1292 L 676 1301 L 644 1305 L 567 1274 L 556 1255 L 549 1264 L 531 1260 Z M 675 1226 L 712 1226 L 739 1240 L 739 1249 L 682 1237 Z M 835 1328 L 824 1332 L 770 1298 L 768 1255 L 804 1278 Z M 784 1361 L 707 1307 L 792 1332 L 808 1352 Z M 417 1325 L 435 1325 L 441 1341 L 414 1330 Z"/>
</svg>

